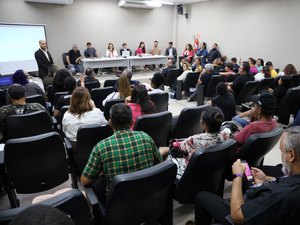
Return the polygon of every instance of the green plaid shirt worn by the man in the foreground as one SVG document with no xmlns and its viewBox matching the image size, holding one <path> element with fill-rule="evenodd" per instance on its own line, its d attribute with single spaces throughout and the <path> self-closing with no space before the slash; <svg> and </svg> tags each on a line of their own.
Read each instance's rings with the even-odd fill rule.
<svg viewBox="0 0 300 225">
<path fill-rule="evenodd" d="M 95 180 L 103 173 L 110 183 L 118 174 L 146 169 L 161 161 L 148 134 L 130 129 L 117 130 L 93 148 L 82 175 Z"/>
</svg>

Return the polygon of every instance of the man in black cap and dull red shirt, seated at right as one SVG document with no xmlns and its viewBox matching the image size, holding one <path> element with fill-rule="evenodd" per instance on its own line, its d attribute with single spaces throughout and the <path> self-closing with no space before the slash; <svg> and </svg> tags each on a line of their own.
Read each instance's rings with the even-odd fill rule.
<svg viewBox="0 0 300 225">
<path fill-rule="evenodd" d="M 244 144 L 252 134 L 268 132 L 277 126 L 276 121 L 272 119 L 276 110 L 276 98 L 265 92 L 258 96 L 252 96 L 251 100 L 254 104 L 252 116 L 257 120 L 234 134 L 235 140 L 240 145 Z"/>
</svg>

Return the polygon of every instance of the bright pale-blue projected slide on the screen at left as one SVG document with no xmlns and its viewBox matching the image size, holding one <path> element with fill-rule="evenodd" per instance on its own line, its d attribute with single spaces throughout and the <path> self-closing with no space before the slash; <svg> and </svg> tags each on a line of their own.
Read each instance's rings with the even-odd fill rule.
<svg viewBox="0 0 300 225">
<path fill-rule="evenodd" d="M 41 39 L 46 40 L 44 25 L 0 23 L 0 73 L 8 75 L 18 69 L 37 71 L 34 53 Z"/>
</svg>

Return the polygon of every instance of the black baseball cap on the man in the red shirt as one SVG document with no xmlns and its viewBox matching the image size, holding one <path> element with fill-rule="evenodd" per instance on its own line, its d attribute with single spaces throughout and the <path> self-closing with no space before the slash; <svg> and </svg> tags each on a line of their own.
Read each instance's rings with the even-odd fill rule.
<svg viewBox="0 0 300 225">
<path fill-rule="evenodd" d="M 262 109 L 263 113 L 266 114 L 274 114 L 276 107 L 277 107 L 277 101 L 274 95 L 268 92 L 264 92 L 260 95 L 253 95 L 251 97 L 251 101 L 257 105 L 259 105 Z"/>
</svg>

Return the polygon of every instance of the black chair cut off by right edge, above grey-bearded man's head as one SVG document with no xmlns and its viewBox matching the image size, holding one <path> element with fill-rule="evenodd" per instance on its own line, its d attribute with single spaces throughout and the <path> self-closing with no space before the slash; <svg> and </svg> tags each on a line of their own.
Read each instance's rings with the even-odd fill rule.
<svg viewBox="0 0 300 225">
<path fill-rule="evenodd" d="M 300 86 L 296 88 L 289 88 L 284 98 L 281 100 L 280 105 L 276 111 L 278 122 L 288 125 L 290 115 L 297 115 L 300 109 Z"/>
</svg>

